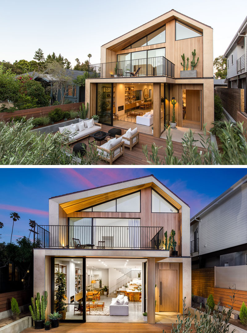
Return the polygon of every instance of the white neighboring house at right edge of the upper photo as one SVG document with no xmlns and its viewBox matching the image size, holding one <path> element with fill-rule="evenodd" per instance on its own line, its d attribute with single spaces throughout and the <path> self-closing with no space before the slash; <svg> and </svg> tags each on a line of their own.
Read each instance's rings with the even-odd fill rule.
<svg viewBox="0 0 247 333">
<path fill-rule="evenodd" d="M 236 35 L 224 53 L 227 58 L 227 78 L 225 82 L 228 88 L 244 89 L 244 105 L 246 112 L 246 88 L 247 88 L 247 16 L 241 24 Z"/>
</svg>

